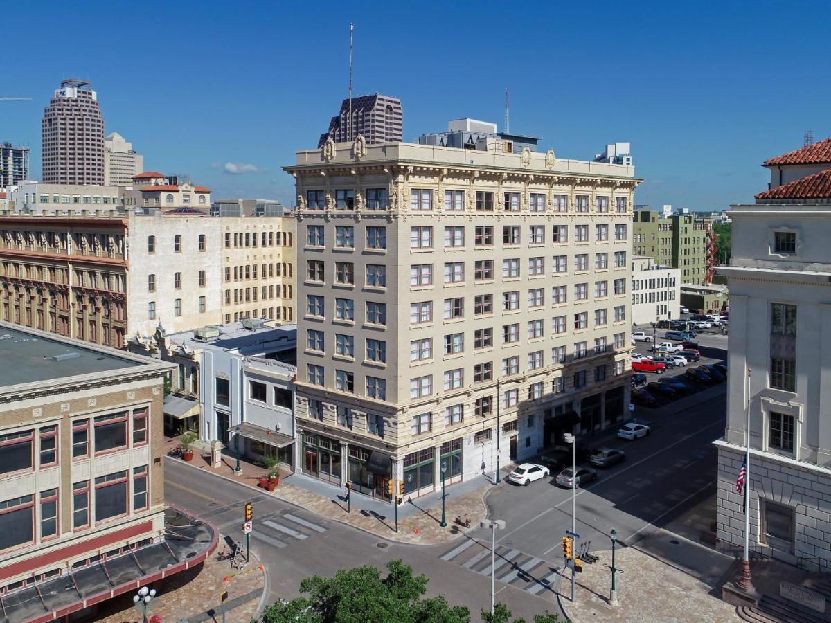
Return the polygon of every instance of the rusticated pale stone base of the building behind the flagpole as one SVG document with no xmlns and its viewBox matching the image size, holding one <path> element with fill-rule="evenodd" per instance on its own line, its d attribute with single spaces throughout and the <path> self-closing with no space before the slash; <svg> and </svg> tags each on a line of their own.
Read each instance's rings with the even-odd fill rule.
<svg viewBox="0 0 831 623">
<path fill-rule="evenodd" d="M 719 449 L 718 517 L 720 549 L 737 552 L 745 542 L 744 495 L 735 481 L 744 450 L 724 442 Z M 831 559 L 831 473 L 804 467 L 769 453 L 750 457 L 750 551 L 814 568 Z"/>
</svg>

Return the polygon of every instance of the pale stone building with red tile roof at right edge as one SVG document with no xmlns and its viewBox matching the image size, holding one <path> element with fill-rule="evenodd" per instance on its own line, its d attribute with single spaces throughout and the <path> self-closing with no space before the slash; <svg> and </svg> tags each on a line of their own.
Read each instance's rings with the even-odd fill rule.
<svg viewBox="0 0 831 623">
<path fill-rule="evenodd" d="M 732 259 L 719 268 L 730 289 L 730 385 L 715 442 L 718 537 L 743 542 L 735 481 L 749 400 L 750 546 L 816 567 L 831 558 L 831 141 L 765 166 L 770 189 L 732 206 Z"/>
</svg>

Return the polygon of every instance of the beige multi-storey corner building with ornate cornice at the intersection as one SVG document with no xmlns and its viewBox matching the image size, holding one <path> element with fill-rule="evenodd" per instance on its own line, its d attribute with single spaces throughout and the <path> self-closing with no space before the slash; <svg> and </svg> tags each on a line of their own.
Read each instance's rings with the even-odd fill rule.
<svg viewBox="0 0 831 623">
<path fill-rule="evenodd" d="M 628 417 L 632 166 L 358 137 L 285 169 L 298 469 L 410 498 Z"/>
</svg>

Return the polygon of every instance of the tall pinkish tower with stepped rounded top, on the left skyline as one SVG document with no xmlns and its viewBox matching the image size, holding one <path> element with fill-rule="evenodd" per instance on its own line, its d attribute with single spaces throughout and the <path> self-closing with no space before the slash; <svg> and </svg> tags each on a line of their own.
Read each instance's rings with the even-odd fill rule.
<svg viewBox="0 0 831 623">
<path fill-rule="evenodd" d="M 43 113 L 46 184 L 98 184 L 104 177 L 104 117 L 89 82 L 62 80 Z"/>
</svg>

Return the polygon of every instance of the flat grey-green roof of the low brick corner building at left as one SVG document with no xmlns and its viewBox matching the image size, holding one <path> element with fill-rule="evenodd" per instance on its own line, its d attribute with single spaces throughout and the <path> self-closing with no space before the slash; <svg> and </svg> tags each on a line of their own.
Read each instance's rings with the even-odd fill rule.
<svg viewBox="0 0 831 623">
<path fill-rule="evenodd" d="M 0 323 L 0 387 L 143 365 L 126 357 L 52 339 L 42 332 L 19 331 Z"/>
</svg>

